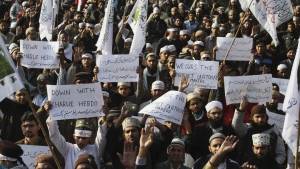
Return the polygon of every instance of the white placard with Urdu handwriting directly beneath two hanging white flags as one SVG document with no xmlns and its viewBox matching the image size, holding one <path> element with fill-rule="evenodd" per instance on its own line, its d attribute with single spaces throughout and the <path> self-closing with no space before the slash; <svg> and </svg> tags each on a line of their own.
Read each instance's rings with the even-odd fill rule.
<svg viewBox="0 0 300 169">
<path fill-rule="evenodd" d="M 131 55 L 97 55 L 100 82 L 137 82 L 139 58 Z"/>
</svg>

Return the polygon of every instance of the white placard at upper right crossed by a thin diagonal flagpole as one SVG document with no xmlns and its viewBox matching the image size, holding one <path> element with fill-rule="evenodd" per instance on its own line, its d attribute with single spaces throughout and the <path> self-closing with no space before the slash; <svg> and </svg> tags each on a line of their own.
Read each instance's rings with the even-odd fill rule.
<svg viewBox="0 0 300 169">
<path fill-rule="evenodd" d="M 234 38 L 217 37 L 216 60 L 224 60 Z M 250 61 L 252 38 L 236 38 L 226 60 Z"/>
</svg>

